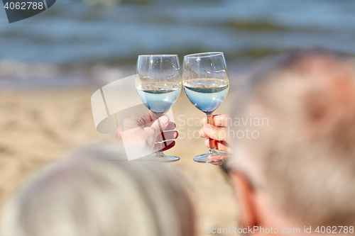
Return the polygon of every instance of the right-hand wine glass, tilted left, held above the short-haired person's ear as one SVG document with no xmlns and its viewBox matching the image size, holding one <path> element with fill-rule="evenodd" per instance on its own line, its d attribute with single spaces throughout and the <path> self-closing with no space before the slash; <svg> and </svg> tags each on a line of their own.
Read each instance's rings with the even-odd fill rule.
<svg viewBox="0 0 355 236">
<path fill-rule="evenodd" d="M 207 115 L 213 125 L 212 113 L 221 105 L 229 90 L 229 74 L 223 52 L 185 55 L 182 64 L 182 84 L 191 103 Z M 229 153 L 217 152 L 215 140 L 209 139 L 209 152 L 194 158 L 195 162 L 223 162 Z"/>
</svg>

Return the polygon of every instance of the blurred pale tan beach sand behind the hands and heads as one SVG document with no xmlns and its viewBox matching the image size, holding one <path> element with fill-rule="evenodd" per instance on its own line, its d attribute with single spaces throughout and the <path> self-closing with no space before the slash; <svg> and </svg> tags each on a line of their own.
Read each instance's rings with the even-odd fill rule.
<svg viewBox="0 0 355 236">
<path fill-rule="evenodd" d="M 94 127 L 90 97 L 96 89 L 43 89 L 0 92 L 0 207 L 16 188 L 36 170 L 70 150 L 103 140 L 116 140 L 116 135 L 98 133 Z M 233 94 L 216 113 L 227 111 Z M 185 94 L 173 106 L 177 130 L 200 129 L 196 124 L 204 114 Z M 178 120 L 178 116 L 180 120 Z M 195 125 L 182 126 L 181 119 L 193 118 Z M 193 121 L 193 122 L 192 122 Z M 195 137 L 197 136 L 195 131 Z M 180 135 L 182 136 L 182 135 Z M 193 135 L 192 135 L 193 136 Z M 192 160 L 207 152 L 202 138 L 178 138 L 166 153 L 180 157 L 168 165 L 187 181 L 197 209 L 197 235 L 207 235 L 206 227 L 236 226 L 236 203 L 222 170 L 212 164 Z"/>
</svg>

